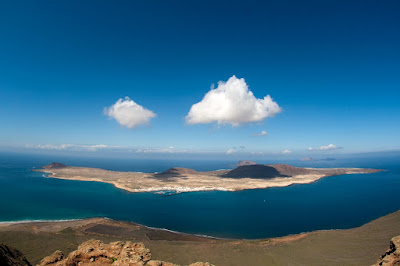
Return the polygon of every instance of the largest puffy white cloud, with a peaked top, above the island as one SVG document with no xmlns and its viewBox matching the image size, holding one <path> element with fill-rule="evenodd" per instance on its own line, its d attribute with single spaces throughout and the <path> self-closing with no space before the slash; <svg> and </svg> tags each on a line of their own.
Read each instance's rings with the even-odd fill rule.
<svg viewBox="0 0 400 266">
<path fill-rule="evenodd" d="M 279 113 L 281 108 L 271 96 L 257 99 L 243 78 L 232 76 L 227 82 L 218 82 L 216 89 L 206 93 L 201 102 L 190 108 L 188 124 L 231 124 L 258 122 Z"/>
</svg>

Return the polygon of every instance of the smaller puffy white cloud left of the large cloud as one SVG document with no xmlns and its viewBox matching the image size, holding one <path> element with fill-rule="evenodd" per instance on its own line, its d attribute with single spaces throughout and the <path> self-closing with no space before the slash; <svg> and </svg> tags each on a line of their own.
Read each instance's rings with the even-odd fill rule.
<svg viewBox="0 0 400 266">
<path fill-rule="evenodd" d="M 104 108 L 104 114 L 127 128 L 148 124 L 156 116 L 155 113 L 135 103 L 129 97 L 120 98 L 114 105 Z"/>
</svg>

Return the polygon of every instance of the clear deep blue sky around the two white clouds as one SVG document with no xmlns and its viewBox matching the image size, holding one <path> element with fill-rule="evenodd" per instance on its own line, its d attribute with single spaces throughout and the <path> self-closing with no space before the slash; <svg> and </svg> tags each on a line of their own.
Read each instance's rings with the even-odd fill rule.
<svg viewBox="0 0 400 266">
<path fill-rule="evenodd" d="M 399 150 L 399 12 L 397 0 L 2 1 L 1 149 Z M 192 105 L 234 75 L 281 111 L 188 124 Z M 104 108 L 125 97 L 156 116 L 120 125 Z"/>
</svg>

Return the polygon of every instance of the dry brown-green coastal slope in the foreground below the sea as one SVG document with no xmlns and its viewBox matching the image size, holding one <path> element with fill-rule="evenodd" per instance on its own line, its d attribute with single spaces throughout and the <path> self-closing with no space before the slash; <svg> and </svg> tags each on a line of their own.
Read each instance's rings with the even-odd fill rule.
<svg viewBox="0 0 400 266">
<path fill-rule="evenodd" d="M 295 218 L 295 217 L 294 217 Z M 68 254 L 90 239 L 143 242 L 152 259 L 188 265 L 372 265 L 400 235 L 400 211 L 364 226 L 264 240 L 205 238 L 138 224 L 93 218 L 0 224 L 0 242 L 38 263 L 56 250 Z"/>
</svg>

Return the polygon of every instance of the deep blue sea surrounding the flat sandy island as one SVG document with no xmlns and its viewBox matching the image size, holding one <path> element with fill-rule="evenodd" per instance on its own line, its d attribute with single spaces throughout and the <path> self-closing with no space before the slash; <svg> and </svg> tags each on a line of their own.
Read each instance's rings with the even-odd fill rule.
<svg viewBox="0 0 400 266">
<path fill-rule="evenodd" d="M 228 238 L 267 238 L 360 226 L 400 209 L 400 159 L 287 162 L 305 167 L 370 167 L 387 171 L 323 178 L 312 184 L 172 196 L 129 193 L 110 184 L 46 178 L 52 161 L 119 171 L 232 168 L 236 161 L 50 157 L 0 153 L 0 221 L 109 217 L 170 230 Z M 277 163 L 265 160 L 259 163 Z M 280 161 L 282 162 L 282 161 Z"/>
</svg>

